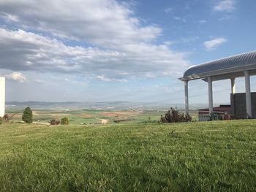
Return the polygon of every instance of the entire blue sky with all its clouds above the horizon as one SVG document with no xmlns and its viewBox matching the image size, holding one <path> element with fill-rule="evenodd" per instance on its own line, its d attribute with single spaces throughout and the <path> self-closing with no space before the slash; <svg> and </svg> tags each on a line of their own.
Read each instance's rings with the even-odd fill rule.
<svg viewBox="0 0 256 192">
<path fill-rule="evenodd" d="M 255 0 L 0 0 L 7 101 L 184 103 L 192 65 L 256 50 Z M 256 91 L 256 78 L 251 78 Z M 214 103 L 230 81 L 213 83 Z M 207 103 L 189 82 L 189 103 Z M 244 79 L 236 79 L 244 92 Z"/>
</svg>

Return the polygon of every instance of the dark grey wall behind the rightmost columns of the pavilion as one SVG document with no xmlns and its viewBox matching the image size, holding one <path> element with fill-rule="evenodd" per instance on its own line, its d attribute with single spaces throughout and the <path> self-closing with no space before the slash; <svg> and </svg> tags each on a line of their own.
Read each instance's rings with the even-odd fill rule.
<svg viewBox="0 0 256 192">
<path fill-rule="evenodd" d="M 256 118 L 256 93 L 251 93 L 252 97 L 252 117 Z M 230 94 L 232 115 L 236 118 L 247 118 L 246 115 L 246 95 L 245 93 Z"/>
</svg>

